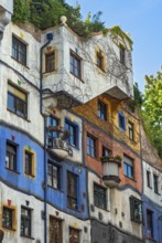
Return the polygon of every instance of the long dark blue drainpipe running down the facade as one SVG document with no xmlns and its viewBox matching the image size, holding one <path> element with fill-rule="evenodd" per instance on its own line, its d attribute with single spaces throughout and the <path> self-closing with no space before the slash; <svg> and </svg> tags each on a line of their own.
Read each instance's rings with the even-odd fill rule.
<svg viewBox="0 0 162 243">
<path fill-rule="evenodd" d="M 47 158 L 47 154 L 46 154 L 46 116 L 43 114 L 42 112 L 42 82 L 43 82 L 43 74 L 42 74 L 42 56 L 43 56 L 43 50 L 51 43 L 51 41 L 53 40 L 53 34 L 48 33 L 46 34 L 46 39 L 47 42 L 41 47 L 40 50 L 40 113 L 44 118 L 44 243 L 47 243 L 47 236 L 46 236 L 46 232 L 47 232 L 47 222 L 46 222 L 46 191 L 47 191 L 47 168 L 46 168 L 46 158 Z"/>
</svg>

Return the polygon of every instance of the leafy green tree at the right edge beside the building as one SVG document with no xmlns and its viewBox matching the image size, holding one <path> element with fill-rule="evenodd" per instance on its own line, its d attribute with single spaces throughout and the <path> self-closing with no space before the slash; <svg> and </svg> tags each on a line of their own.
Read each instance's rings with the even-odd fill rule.
<svg viewBox="0 0 162 243">
<path fill-rule="evenodd" d="M 162 72 L 156 76 L 145 76 L 147 85 L 143 94 L 143 117 L 150 140 L 162 158 Z"/>
</svg>

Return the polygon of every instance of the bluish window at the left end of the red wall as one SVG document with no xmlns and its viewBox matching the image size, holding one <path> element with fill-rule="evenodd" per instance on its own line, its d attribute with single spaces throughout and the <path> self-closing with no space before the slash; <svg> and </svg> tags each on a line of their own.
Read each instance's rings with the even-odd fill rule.
<svg viewBox="0 0 162 243">
<path fill-rule="evenodd" d="M 90 134 L 87 134 L 86 138 L 87 138 L 87 144 L 86 144 L 87 155 L 93 158 L 97 158 L 97 138 L 95 138 Z M 88 142 L 88 140 L 89 140 L 89 142 Z"/>
</svg>

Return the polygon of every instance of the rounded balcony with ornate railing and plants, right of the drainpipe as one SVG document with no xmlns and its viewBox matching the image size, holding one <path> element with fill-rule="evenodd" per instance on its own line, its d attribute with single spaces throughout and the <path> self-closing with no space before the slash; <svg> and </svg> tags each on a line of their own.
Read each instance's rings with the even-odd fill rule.
<svg viewBox="0 0 162 243">
<path fill-rule="evenodd" d="M 73 150 L 66 141 L 69 136 L 68 130 L 63 130 L 63 128 L 58 126 L 51 126 L 47 128 L 47 148 L 50 151 L 52 151 L 61 160 L 64 160 L 67 156 L 73 155 Z M 50 135 L 51 133 L 54 133 L 54 137 Z"/>
</svg>

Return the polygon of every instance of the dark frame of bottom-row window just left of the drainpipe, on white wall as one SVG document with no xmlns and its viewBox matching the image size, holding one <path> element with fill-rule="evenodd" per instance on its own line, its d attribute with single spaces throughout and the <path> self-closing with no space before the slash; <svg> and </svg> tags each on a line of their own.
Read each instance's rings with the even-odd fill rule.
<svg viewBox="0 0 162 243">
<path fill-rule="evenodd" d="M 28 215 L 22 214 L 22 210 L 25 210 L 28 212 Z M 25 233 L 26 222 L 29 224 L 28 226 L 29 233 Z M 22 226 L 23 226 L 23 233 L 22 233 Z M 24 205 L 21 205 L 20 236 L 30 237 L 30 239 L 32 237 L 32 209 L 26 208 Z"/>
</svg>

